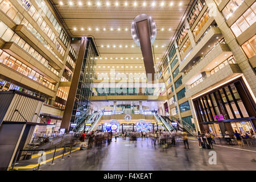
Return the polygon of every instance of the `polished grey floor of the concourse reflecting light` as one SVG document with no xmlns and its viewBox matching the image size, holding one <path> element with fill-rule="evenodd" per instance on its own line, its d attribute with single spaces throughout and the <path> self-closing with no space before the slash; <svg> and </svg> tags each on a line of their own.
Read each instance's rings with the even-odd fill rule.
<svg viewBox="0 0 256 182">
<path fill-rule="evenodd" d="M 216 152 L 216 164 L 209 164 L 210 151 Z M 51 158 L 51 156 L 49 156 Z M 150 139 L 138 138 L 137 142 L 129 138 L 114 139 L 102 147 L 76 150 L 71 157 L 64 156 L 55 159 L 55 165 L 50 166 L 51 160 L 40 166 L 47 170 L 256 170 L 255 147 L 214 146 L 207 150 L 199 148 L 197 140 L 189 139 L 189 150 L 183 143 L 170 148 L 162 148 L 152 144 Z M 29 161 L 29 160 L 28 160 Z M 20 162 L 17 166 L 24 166 Z M 18 168 L 18 167 L 17 167 Z M 26 166 L 19 170 L 32 170 Z"/>
</svg>

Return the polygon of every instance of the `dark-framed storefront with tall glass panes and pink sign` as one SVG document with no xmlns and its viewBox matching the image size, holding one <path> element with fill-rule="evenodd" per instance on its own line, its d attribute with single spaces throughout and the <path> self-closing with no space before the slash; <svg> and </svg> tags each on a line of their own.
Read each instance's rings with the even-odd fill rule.
<svg viewBox="0 0 256 182">
<path fill-rule="evenodd" d="M 242 77 L 192 99 L 201 131 L 255 133 L 255 101 Z"/>
</svg>

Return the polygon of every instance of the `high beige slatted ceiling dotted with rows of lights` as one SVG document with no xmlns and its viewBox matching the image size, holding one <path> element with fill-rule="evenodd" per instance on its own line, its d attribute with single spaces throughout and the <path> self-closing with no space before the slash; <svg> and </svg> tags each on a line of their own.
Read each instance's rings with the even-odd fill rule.
<svg viewBox="0 0 256 182">
<path fill-rule="evenodd" d="M 177 29 L 183 23 L 192 0 L 115 1 L 115 0 L 49 0 L 70 36 L 92 35 L 101 58 L 96 73 L 143 73 L 141 48 L 131 38 L 131 22 L 139 14 L 150 15 L 157 35 L 153 57 L 155 67 L 162 60 Z"/>
</svg>

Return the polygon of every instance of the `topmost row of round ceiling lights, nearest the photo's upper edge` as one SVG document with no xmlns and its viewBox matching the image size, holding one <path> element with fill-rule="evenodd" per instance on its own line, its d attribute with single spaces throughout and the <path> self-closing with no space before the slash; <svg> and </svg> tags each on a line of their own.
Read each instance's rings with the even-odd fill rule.
<svg viewBox="0 0 256 182">
<path fill-rule="evenodd" d="M 60 5 L 64 5 L 64 3 L 62 2 L 62 1 L 60 1 L 59 2 L 60 3 Z M 90 2 L 90 1 L 88 1 L 87 3 L 85 3 L 86 5 L 88 5 L 88 6 L 92 6 L 93 5 L 93 3 L 92 2 Z M 179 2 L 177 5 L 179 5 L 179 6 L 181 6 L 183 3 L 182 2 Z M 73 5 L 75 5 L 72 1 L 69 1 L 68 2 L 68 5 L 70 5 L 70 6 L 73 6 Z M 82 6 L 83 5 L 83 3 L 81 2 L 81 1 L 79 1 L 79 2 L 77 2 L 77 4 L 76 5 L 79 5 L 79 6 Z M 96 3 L 95 3 L 95 5 L 96 6 L 102 6 L 103 5 L 103 3 L 101 3 L 101 1 L 97 1 Z M 114 6 L 129 6 L 129 3 L 128 2 L 124 2 L 123 4 L 120 4 L 118 1 L 115 1 L 114 3 L 110 3 L 109 1 L 106 1 L 106 3 L 104 4 L 105 6 L 111 6 L 111 5 L 114 5 Z M 136 1 L 134 1 L 133 3 L 131 3 L 130 4 L 131 6 L 134 6 L 134 7 L 136 7 L 136 6 L 139 6 L 139 3 L 137 3 Z M 161 7 L 166 7 L 166 5 L 168 6 L 173 6 L 174 5 L 174 2 L 170 2 L 170 3 L 165 3 L 164 1 L 162 1 L 162 2 L 160 2 L 159 3 L 159 6 L 161 6 Z M 155 2 L 155 1 L 152 1 L 151 3 L 150 3 L 150 5 L 147 5 L 147 2 L 146 1 L 144 1 L 142 4 L 141 4 L 141 6 L 143 6 L 143 7 L 148 7 L 148 6 L 151 6 L 151 7 L 155 7 L 155 6 L 157 6 L 157 3 Z"/>
</svg>

